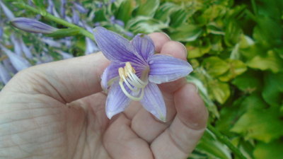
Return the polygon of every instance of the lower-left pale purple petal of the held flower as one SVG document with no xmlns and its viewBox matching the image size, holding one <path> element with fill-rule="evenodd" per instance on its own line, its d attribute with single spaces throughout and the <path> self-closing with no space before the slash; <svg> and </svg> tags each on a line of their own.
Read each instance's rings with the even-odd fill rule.
<svg viewBox="0 0 283 159">
<path fill-rule="evenodd" d="M 115 114 L 118 114 L 126 109 L 129 105 L 129 98 L 122 92 L 119 81 L 115 81 L 110 87 L 106 100 L 106 115 L 111 119 Z"/>
</svg>

